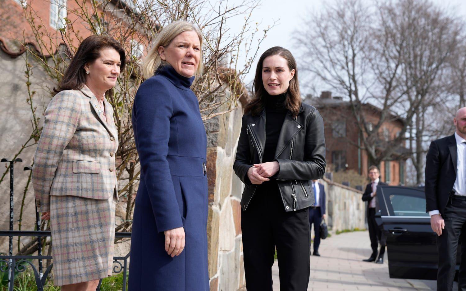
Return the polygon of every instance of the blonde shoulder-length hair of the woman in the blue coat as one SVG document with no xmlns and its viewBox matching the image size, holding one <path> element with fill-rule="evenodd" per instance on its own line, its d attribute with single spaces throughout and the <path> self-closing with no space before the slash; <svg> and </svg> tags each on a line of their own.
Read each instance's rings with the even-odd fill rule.
<svg viewBox="0 0 466 291">
<path fill-rule="evenodd" d="M 175 21 L 162 29 L 154 41 L 153 46 L 149 50 L 149 53 L 144 57 L 143 64 L 141 66 L 144 78 L 149 79 L 155 74 L 158 68 L 168 64 L 166 61 L 160 58 L 160 54 L 158 54 L 158 48 L 161 46 L 168 46 L 171 41 L 173 41 L 173 39 L 178 36 L 178 34 L 184 33 L 185 31 L 194 31 L 199 36 L 199 49 L 201 51 L 201 57 L 199 59 L 198 69 L 194 75 L 197 77 L 202 74 L 202 34 L 199 27 L 187 21 Z"/>
</svg>

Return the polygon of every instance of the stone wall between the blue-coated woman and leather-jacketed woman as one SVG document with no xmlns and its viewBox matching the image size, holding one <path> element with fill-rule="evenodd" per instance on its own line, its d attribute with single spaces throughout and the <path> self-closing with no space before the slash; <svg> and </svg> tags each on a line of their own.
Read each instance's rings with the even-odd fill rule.
<svg viewBox="0 0 466 291">
<path fill-rule="evenodd" d="M 240 199 L 243 185 L 233 172 L 242 106 L 206 122 L 209 218 L 207 223 L 211 291 L 245 285 Z"/>
</svg>

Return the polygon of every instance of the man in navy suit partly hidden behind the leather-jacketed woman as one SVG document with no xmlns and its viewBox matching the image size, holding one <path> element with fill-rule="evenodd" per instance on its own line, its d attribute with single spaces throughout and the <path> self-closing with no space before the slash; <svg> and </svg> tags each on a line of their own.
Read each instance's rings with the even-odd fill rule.
<svg viewBox="0 0 466 291">
<path fill-rule="evenodd" d="M 314 223 L 314 256 L 320 256 L 319 244 L 320 244 L 320 224 L 322 219 L 325 219 L 325 189 L 318 180 L 312 180 L 312 190 L 314 191 L 315 204 L 309 207 L 309 226 L 312 230 L 312 224 Z M 310 252 L 310 251 L 309 251 Z"/>
</svg>

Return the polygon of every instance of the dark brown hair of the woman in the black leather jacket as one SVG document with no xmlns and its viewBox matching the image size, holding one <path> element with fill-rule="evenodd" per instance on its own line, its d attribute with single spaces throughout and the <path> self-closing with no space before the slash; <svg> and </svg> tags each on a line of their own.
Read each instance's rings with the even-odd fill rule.
<svg viewBox="0 0 466 291">
<path fill-rule="evenodd" d="M 251 115 L 258 115 L 265 107 L 267 91 L 264 88 L 264 84 L 262 82 L 262 66 L 265 58 L 271 55 L 279 55 L 283 57 L 287 61 L 288 69 L 290 71 L 295 69 L 295 75 L 293 76 L 293 79 L 291 79 L 287 90 L 285 107 L 290 111 L 293 117 L 296 117 L 301 108 L 301 94 L 299 92 L 298 68 L 296 66 L 296 60 L 293 57 L 293 54 L 291 54 L 291 52 L 288 49 L 283 47 L 271 47 L 260 56 L 259 62 L 257 63 L 256 75 L 254 77 L 253 83 L 254 98 L 246 105 L 246 107 L 244 108 L 244 112 L 251 112 Z"/>
</svg>

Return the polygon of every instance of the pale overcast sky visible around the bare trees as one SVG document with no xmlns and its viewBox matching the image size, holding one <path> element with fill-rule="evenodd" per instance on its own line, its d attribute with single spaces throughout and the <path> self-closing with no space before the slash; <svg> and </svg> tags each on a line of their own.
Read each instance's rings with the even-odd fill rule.
<svg viewBox="0 0 466 291">
<path fill-rule="evenodd" d="M 267 48 L 274 46 L 286 47 L 295 54 L 295 56 L 298 55 L 297 49 L 293 46 L 292 33 L 296 27 L 302 23 L 306 15 L 319 12 L 323 7 L 322 3 L 325 3 L 324 1 L 325 0 L 262 0 L 262 5 L 253 12 L 254 22 L 262 22 L 262 28 L 266 27 L 267 24 L 274 23 L 274 20 L 278 20 L 279 22 L 270 30 L 267 34 L 267 38 L 262 42 L 259 49 L 259 56 Z M 432 1 L 445 9 L 455 10 L 458 16 L 466 18 L 466 0 Z M 253 64 L 254 69 L 257 65 L 257 59 Z M 254 79 L 254 69 L 247 75 L 245 80 L 247 83 Z"/>
</svg>

